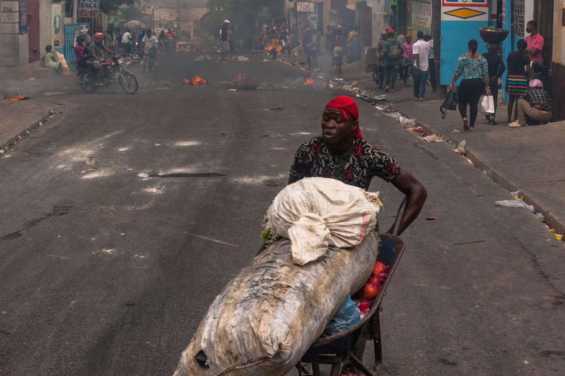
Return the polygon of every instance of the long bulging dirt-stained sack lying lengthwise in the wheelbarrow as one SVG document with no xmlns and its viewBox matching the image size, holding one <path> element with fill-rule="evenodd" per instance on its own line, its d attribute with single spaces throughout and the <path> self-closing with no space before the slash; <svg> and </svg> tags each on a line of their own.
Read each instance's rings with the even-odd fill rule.
<svg viewBox="0 0 565 376">
<path fill-rule="evenodd" d="M 377 257 L 374 234 L 304 266 L 293 263 L 288 239 L 273 243 L 216 297 L 174 376 L 287 373 L 366 283 Z"/>
</svg>

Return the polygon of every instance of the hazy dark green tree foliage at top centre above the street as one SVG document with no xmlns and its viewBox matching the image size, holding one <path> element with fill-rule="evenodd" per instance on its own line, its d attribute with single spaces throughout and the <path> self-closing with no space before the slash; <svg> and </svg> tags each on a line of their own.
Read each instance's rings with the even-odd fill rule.
<svg viewBox="0 0 565 376">
<path fill-rule="evenodd" d="M 223 21 L 231 21 L 236 37 L 256 34 L 263 24 L 284 21 L 285 0 L 208 0 L 208 11 L 201 18 L 203 29 L 217 36 Z"/>
</svg>

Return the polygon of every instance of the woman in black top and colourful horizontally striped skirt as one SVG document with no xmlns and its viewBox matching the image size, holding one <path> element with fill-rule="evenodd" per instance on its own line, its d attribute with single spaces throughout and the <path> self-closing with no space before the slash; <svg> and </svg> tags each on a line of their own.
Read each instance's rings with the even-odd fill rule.
<svg viewBox="0 0 565 376">
<path fill-rule="evenodd" d="M 528 78 L 530 63 L 525 49 L 528 43 L 521 39 L 516 42 L 518 51 L 512 51 L 506 59 L 508 76 L 506 78 L 506 94 L 508 94 L 508 124 L 512 122 L 512 108 L 514 110 L 514 121 L 518 120 L 518 99 L 528 89 Z"/>
</svg>

